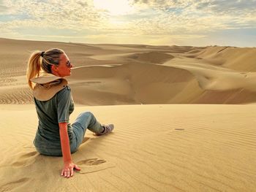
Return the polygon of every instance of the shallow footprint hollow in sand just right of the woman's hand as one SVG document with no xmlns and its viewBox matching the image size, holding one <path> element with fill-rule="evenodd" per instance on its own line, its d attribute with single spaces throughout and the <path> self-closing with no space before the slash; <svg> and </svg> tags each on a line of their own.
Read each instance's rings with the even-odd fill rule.
<svg viewBox="0 0 256 192">
<path fill-rule="evenodd" d="M 76 164 L 78 164 L 78 166 L 81 168 L 80 172 L 78 172 L 80 174 L 99 172 L 116 166 L 113 163 L 98 158 L 89 158 L 86 160 L 78 161 Z"/>
</svg>

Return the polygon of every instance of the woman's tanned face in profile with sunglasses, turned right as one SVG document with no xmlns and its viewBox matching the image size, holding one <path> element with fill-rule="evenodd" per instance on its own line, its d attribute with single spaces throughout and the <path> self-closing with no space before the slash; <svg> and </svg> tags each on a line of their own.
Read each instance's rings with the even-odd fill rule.
<svg viewBox="0 0 256 192">
<path fill-rule="evenodd" d="M 53 66 L 54 69 L 52 69 L 52 71 L 55 71 L 56 76 L 66 77 L 66 76 L 70 76 L 72 67 L 73 66 L 70 63 L 69 58 L 65 53 L 63 53 L 59 57 L 59 65 Z"/>
</svg>

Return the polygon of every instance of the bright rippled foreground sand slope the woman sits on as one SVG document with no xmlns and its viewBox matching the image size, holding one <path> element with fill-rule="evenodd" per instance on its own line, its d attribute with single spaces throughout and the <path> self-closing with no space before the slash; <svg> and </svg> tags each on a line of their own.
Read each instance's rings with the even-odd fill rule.
<svg viewBox="0 0 256 192">
<path fill-rule="evenodd" d="M 254 105 L 76 107 L 71 121 L 89 110 L 116 129 L 106 137 L 86 132 L 72 155 L 81 171 L 69 180 L 60 177 L 61 157 L 34 150 L 34 106 L 4 108 L 0 191 L 254 191 L 256 187 Z"/>
</svg>

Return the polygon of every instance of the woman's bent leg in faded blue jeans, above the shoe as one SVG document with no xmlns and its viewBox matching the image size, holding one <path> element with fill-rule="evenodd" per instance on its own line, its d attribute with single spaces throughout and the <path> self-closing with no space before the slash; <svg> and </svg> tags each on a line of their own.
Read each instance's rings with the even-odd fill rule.
<svg viewBox="0 0 256 192">
<path fill-rule="evenodd" d="M 83 142 L 83 137 L 86 134 L 86 128 L 96 134 L 104 131 L 102 125 L 97 121 L 91 112 L 80 113 L 75 122 L 72 123 L 72 128 L 76 137 L 76 149 L 78 149 L 79 145 Z"/>
</svg>

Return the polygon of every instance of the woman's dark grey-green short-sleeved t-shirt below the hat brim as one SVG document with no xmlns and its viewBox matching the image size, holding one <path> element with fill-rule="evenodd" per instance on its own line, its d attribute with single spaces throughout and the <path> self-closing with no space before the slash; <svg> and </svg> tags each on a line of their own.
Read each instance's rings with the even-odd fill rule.
<svg viewBox="0 0 256 192">
<path fill-rule="evenodd" d="M 39 101 L 34 98 L 39 125 L 34 139 L 36 147 L 61 149 L 59 136 L 59 123 L 68 123 L 67 131 L 69 143 L 72 143 L 72 126 L 69 123 L 69 115 L 74 111 L 74 101 L 71 89 L 67 85 L 48 101 Z"/>
</svg>

